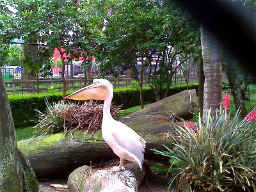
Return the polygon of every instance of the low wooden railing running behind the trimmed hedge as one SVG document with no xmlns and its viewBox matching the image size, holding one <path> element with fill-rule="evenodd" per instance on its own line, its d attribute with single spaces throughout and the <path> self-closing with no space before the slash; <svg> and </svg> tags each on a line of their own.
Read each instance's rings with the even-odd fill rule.
<svg viewBox="0 0 256 192">
<path fill-rule="evenodd" d="M 132 78 L 119 77 L 119 78 L 107 78 L 114 86 L 114 88 L 125 88 L 131 86 Z M 143 81 L 143 85 L 147 85 L 147 77 Z M 83 77 L 78 77 L 77 79 L 66 79 L 67 80 L 67 90 L 75 91 L 83 86 L 92 83 L 93 79 L 86 79 L 84 82 Z M 185 83 L 185 78 L 183 76 L 172 77 L 172 83 Z M 189 82 L 198 82 L 198 76 L 190 76 Z M 4 81 L 6 92 L 10 95 L 24 95 L 33 93 L 49 93 L 53 91 L 62 92 L 62 81 L 61 79 L 40 79 L 38 84 L 36 80 L 22 81 L 19 79 L 12 79 L 12 81 Z M 29 86 L 28 86 L 29 84 Z"/>
</svg>

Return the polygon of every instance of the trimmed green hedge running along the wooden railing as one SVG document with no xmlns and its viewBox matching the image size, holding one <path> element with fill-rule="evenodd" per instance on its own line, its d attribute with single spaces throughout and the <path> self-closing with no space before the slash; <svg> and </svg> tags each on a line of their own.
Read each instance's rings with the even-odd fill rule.
<svg viewBox="0 0 256 192">
<path fill-rule="evenodd" d="M 198 91 L 198 83 L 189 84 L 189 89 Z M 175 84 L 170 88 L 169 95 L 186 90 L 186 84 Z M 33 125 L 31 120 L 36 118 L 37 112 L 34 109 L 44 111 L 46 108 L 45 97 L 50 103 L 58 102 L 62 99 L 62 93 L 47 93 L 39 95 L 10 95 L 9 102 L 12 109 L 13 121 L 15 127 L 25 127 Z M 155 102 L 155 95 L 152 90 L 143 87 L 143 99 L 145 103 Z M 113 104 L 122 105 L 122 108 L 129 108 L 140 105 L 140 90 L 134 88 L 119 88 L 114 90 Z"/>
</svg>

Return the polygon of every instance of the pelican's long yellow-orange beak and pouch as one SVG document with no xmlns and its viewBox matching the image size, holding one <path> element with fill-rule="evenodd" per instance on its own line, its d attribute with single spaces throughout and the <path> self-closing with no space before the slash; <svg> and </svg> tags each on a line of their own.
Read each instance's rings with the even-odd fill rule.
<svg viewBox="0 0 256 192">
<path fill-rule="evenodd" d="M 71 100 L 106 100 L 108 91 L 96 84 L 90 84 L 68 95 L 65 99 Z"/>
</svg>

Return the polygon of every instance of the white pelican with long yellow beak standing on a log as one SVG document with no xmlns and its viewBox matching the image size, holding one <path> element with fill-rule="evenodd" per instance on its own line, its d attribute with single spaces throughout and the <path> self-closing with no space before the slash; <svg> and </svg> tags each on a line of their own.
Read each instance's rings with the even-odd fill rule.
<svg viewBox="0 0 256 192">
<path fill-rule="evenodd" d="M 93 83 L 68 95 L 71 100 L 104 100 L 102 118 L 102 137 L 113 152 L 120 158 L 119 166 L 111 172 L 124 170 L 124 161 L 137 163 L 142 170 L 146 141 L 130 127 L 113 119 L 110 113 L 113 99 L 113 85 L 106 79 L 94 79 Z"/>
</svg>

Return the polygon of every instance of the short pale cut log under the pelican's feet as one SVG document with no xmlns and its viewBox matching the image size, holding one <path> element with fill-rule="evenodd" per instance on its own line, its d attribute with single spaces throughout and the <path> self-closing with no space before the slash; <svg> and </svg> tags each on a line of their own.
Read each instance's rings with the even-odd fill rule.
<svg viewBox="0 0 256 192">
<path fill-rule="evenodd" d="M 68 177 L 68 189 L 76 191 L 122 191 L 137 192 L 145 177 L 145 168 L 134 163 L 125 163 L 122 172 L 109 172 L 111 166 L 118 166 L 119 161 L 113 161 L 110 166 L 104 168 L 92 168 L 81 166 L 70 173 Z"/>
</svg>

